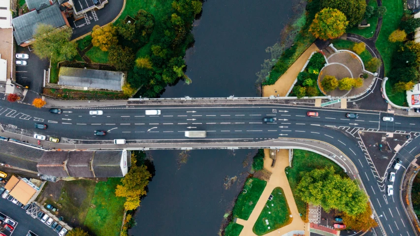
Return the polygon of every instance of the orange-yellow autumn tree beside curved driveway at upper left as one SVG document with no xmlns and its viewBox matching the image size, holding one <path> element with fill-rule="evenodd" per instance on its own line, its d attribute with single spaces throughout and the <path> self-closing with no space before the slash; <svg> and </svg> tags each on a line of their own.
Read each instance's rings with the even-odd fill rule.
<svg viewBox="0 0 420 236">
<path fill-rule="evenodd" d="M 117 30 L 114 26 L 94 26 L 92 32 L 92 44 L 102 51 L 108 51 L 109 47 L 118 43 Z"/>
</svg>

